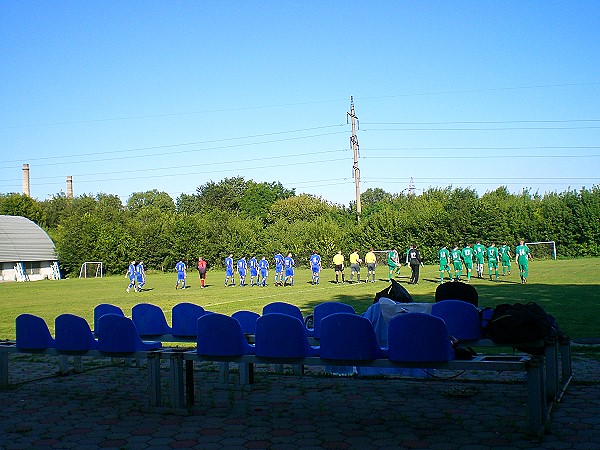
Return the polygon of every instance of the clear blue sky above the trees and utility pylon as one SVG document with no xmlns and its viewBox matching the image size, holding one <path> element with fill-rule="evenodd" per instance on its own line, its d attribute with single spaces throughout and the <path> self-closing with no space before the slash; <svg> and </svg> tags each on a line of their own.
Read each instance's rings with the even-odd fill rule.
<svg viewBox="0 0 600 450">
<path fill-rule="evenodd" d="M 598 1 L 0 2 L 0 192 L 600 183 Z"/>
</svg>

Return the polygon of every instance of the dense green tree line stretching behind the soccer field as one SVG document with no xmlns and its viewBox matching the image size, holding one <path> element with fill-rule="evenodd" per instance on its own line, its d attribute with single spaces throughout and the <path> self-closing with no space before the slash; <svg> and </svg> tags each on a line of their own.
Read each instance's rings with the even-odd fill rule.
<svg viewBox="0 0 600 450">
<path fill-rule="evenodd" d="M 116 195 L 38 201 L 1 194 L 0 214 L 29 218 L 56 245 L 61 270 L 78 274 L 85 261 L 102 261 L 122 274 L 131 260 L 172 270 L 198 256 L 221 268 L 224 258 L 292 252 L 297 265 L 318 251 L 324 265 L 342 250 L 402 250 L 416 244 L 426 262 L 442 245 L 556 241 L 559 257 L 600 256 L 600 186 L 543 195 L 506 187 L 479 196 L 468 188 L 430 188 L 421 195 L 368 189 L 356 205 L 296 195 L 279 182 L 242 177 L 210 181 L 173 200 L 158 190 L 136 192 L 123 204 Z"/>
</svg>

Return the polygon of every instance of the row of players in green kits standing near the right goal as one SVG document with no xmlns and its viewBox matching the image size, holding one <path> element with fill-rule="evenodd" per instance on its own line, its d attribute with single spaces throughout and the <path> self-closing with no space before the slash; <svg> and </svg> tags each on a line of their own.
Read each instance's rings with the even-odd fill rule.
<svg viewBox="0 0 600 450">
<path fill-rule="evenodd" d="M 515 262 L 519 266 L 521 283 L 525 284 L 529 276 L 529 259 L 532 259 L 532 256 L 524 240 L 520 241 L 515 253 Z M 510 275 L 512 254 L 511 248 L 506 242 L 498 248 L 495 242 L 486 247 L 480 241 L 477 241 L 473 248 L 469 243 L 463 249 L 459 249 L 458 245 L 455 245 L 452 250 L 448 250 L 446 246 L 443 246 L 438 252 L 438 259 L 440 262 L 440 283 L 444 282 L 445 272 L 448 273 L 450 281 L 460 281 L 463 265 L 467 271 L 467 282 L 471 281 L 473 266 L 475 266 L 477 277 L 483 278 L 485 259 L 488 260 L 489 279 L 493 281 L 494 277 L 496 280 L 500 278 L 498 273 L 499 263 L 502 264 L 502 275 Z M 450 269 L 450 263 L 452 263 L 454 273 Z"/>
</svg>

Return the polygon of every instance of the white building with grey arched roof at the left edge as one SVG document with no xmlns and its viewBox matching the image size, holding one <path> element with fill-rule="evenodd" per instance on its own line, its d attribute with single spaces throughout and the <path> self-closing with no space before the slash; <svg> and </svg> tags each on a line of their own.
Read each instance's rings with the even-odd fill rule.
<svg viewBox="0 0 600 450">
<path fill-rule="evenodd" d="M 0 281 L 60 279 L 54 242 L 31 220 L 0 215 Z"/>
</svg>

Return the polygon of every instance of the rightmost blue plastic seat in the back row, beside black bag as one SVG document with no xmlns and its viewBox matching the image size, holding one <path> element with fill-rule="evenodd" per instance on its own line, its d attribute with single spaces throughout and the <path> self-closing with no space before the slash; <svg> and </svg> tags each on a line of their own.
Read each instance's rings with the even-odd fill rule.
<svg viewBox="0 0 600 450">
<path fill-rule="evenodd" d="M 434 303 L 431 314 L 446 323 L 448 332 L 458 340 L 476 340 L 483 337 L 479 311 L 462 300 L 444 300 Z"/>
</svg>

